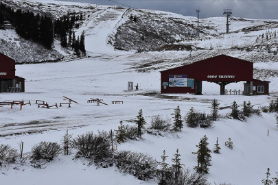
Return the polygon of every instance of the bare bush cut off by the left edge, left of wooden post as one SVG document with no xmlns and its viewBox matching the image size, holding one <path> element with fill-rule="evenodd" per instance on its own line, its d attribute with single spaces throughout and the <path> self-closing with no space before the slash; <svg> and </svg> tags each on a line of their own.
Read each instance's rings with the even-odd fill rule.
<svg viewBox="0 0 278 185">
<path fill-rule="evenodd" d="M 3 163 L 14 163 L 16 162 L 16 158 L 19 157 L 19 153 L 17 153 L 16 149 L 12 148 L 10 145 L 0 145 L 0 166 Z"/>
</svg>

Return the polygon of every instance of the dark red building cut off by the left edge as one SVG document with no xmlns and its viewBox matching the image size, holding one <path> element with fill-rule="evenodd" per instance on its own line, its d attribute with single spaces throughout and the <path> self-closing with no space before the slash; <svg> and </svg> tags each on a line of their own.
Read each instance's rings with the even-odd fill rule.
<svg viewBox="0 0 278 185">
<path fill-rule="evenodd" d="M 15 60 L 0 53 L 0 93 L 25 91 L 25 79 L 15 75 Z"/>
</svg>

